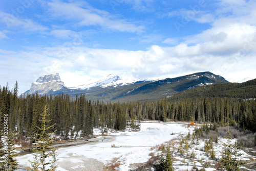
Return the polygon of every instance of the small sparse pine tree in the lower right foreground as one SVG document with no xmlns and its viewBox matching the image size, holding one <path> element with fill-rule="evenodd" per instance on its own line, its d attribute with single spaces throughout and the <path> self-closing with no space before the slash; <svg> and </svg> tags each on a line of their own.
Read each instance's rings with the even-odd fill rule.
<svg viewBox="0 0 256 171">
<path fill-rule="evenodd" d="M 232 144 L 230 134 L 230 131 L 228 131 L 228 141 L 227 144 L 224 143 L 225 149 L 222 153 L 221 163 L 227 171 L 239 171 L 243 162 L 238 157 L 242 154 L 238 153 L 237 146 Z"/>
</svg>

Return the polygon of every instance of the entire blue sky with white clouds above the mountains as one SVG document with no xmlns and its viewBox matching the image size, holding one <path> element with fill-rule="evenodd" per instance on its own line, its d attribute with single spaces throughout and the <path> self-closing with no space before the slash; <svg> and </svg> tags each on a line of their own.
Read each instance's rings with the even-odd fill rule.
<svg viewBox="0 0 256 171">
<path fill-rule="evenodd" d="M 59 73 L 68 87 L 211 71 L 256 78 L 254 0 L 0 1 L 0 85 Z"/>
</svg>

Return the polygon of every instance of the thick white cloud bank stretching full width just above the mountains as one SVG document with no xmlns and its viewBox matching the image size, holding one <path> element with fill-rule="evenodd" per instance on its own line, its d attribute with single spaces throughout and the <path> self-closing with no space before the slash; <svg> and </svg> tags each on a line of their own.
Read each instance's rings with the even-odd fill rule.
<svg viewBox="0 0 256 171">
<path fill-rule="evenodd" d="M 218 46 L 220 42 L 211 43 L 212 46 Z M 223 56 L 221 53 L 210 54 L 208 52 L 210 50 L 207 50 L 203 44 L 188 46 L 182 43 L 173 47 L 153 45 L 147 51 L 104 50 L 83 46 L 69 49 L 35 48 L 34 51 L 19 53 L 2 51 L 6 55 L 0 56 L 1 73 L 7 73 L 10 68 L 15 70 L 1 76 L 5 78 L 1 80 L 1 85 L 5 85 L 12 78 L 18 80 L 20 91 L 24 92 L 38 77 L 56 72 L 67 86 L 81 85 L 88 79 L 105 77 L 109 74 L 119 76 L 132 74 L 135 78 L 143 80 L 212 71 L 229 81 L 236 77 L 256 75 L 254 47 L 248 48 L 245 54 L 230 53 Z M 250 72 L 246 74 L 246 71 Z M 15 75 L 14 72 L 19 74 Z"/>
</svg>

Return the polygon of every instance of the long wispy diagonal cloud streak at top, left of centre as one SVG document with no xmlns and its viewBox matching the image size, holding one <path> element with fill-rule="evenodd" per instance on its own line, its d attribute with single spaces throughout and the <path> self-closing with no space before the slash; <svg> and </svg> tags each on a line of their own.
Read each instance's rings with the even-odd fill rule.
<svg viewBox="0 0 256 171">
<path fill-rule="evenodd" d="M 49 11 L 58 18 L 65 18 L 70 21 L 77 21 L 81 26 L 100 26 L 121 32 L 141 32 L 143 26 L 136 26 L 125 19 L 118 19 L 116 16 L 102 10 L 93 9 L 88 5 L 53 2 L 48 3 Z"/>
</svg>

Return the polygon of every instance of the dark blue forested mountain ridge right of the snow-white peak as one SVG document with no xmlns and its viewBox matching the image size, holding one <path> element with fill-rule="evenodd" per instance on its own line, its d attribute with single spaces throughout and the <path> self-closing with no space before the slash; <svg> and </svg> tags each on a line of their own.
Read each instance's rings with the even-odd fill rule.
<svg viewBox="0 0 256 171">
<path fill-rule="evenodd" d="M 136 82 L 126 89 L 118 87 L 118 93 L 112 95 L 111 100 L 114 101 L 141 101 L 141 100 L 158 100 L 165 97 L 195 87 L 209 84 L 227 83 L 223 77 L 212 74 L 211 72 L 198 72 L 195 74 L 167 78 L 164 80 Z M 129 88 L 129 89 L 127 89 Z M 124 90 L 123 90 L 124 89 Z M 112 89 L 112 94 L 117 91 Z"/>
</svg>

